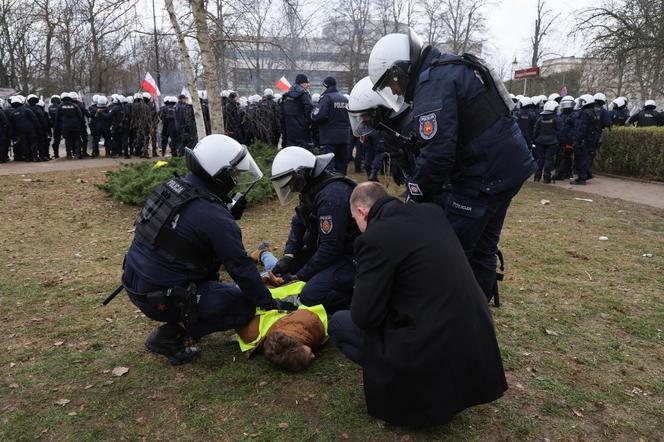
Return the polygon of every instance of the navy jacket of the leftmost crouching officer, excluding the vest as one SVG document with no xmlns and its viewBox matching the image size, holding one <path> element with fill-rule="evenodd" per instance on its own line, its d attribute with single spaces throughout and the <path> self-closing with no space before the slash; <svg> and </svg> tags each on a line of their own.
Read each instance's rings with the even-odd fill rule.
<svg viewBox="0 0 664 442">
<path fill-rule="evenodd" d="M 185 180 L 202 190 L 209 190 L 198 177 L 188 173 Z M 203 280 L 218 280 L 224 266 L 242 293 L 257 306 L 270 306 L 272 296 L 261 281 L 256 265 L 242 244 L 242 232 L 230 212 L 206 199 L 195 199 L 181 211 L 175 228 L 177 235 L 191 244 L 192 251 L 207 263 L 209 274 Z M 131 275 L 131 277 L 128 277 Z M 130 290 L 146 293 L 169 287 L 186 287 L 192 278 L 184 261 L 170 262 L 163 252 L 141 244 L 135 238 L 127 252 L 123 284 L 138 280 Z"/>
</svg>

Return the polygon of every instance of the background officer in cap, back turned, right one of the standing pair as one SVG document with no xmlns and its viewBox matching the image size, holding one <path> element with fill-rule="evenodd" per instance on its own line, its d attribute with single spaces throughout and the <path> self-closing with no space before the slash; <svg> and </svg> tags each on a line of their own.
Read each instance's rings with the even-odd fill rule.
<svg viewBox="0 0 664 442">
<path fill-rule="evenodd" d="M 337 80 L 323 80 L 325 90 L 318 106 L 311 114 L 311 121 L 318 128 L 318 142 L 322 153 L 334 154 L 334 170 L 345 175 L 348 166 L 348 99 L 337 90 Z"/>
</svg>

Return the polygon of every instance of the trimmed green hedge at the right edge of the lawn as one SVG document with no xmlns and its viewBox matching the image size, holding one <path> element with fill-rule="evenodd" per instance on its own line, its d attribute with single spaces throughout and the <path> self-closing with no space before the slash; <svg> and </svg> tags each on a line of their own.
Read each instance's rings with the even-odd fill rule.
<svg viewBox="0 0 664 442">
<path fill-rule="evenodd" d="M 664 127 L 605 130 L 595 168 L 601 172 L 664 181 Z"/>
</svg>

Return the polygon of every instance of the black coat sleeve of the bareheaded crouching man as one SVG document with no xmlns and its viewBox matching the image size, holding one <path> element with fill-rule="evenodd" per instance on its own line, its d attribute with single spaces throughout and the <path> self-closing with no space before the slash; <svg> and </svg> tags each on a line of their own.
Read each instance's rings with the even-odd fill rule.
<svg viewBox="0 0 664 442">
<path fill-rule="evenodd" d="M 387 302 L 392 293 L 395 263 L 378 244 L 360 236 L 355 240 L 357 276 L 350 314 L 364 330 L 380 327 L 387 317 Z"/>
</svg>

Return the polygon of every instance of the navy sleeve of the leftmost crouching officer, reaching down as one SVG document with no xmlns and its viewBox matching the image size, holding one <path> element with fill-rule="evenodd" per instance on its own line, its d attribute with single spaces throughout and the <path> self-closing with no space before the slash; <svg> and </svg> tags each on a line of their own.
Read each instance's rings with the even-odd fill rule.
<svg viewBox="0 0 664 442">
<path fill-rule="evenodd" d="M 208 215 L 204 227 L 206 239 L 244 296 L 256 306 L 270 308 L 272 296 L 244 249 L 240 227 L 230 213 L 221 213 L 222 210 Z"/>
</svg>

